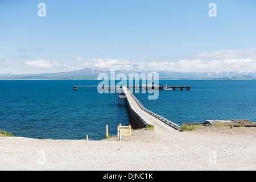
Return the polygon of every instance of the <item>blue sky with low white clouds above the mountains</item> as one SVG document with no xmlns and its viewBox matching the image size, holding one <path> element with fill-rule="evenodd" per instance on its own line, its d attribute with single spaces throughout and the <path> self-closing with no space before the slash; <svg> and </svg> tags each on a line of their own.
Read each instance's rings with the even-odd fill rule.
<svg viewBox="0 0 256 182">
<path fill-rule="evenodd" d="M 256 71 L 255 19 L 253 0 L 1 0 L 0 75 Z"/>
</svg>

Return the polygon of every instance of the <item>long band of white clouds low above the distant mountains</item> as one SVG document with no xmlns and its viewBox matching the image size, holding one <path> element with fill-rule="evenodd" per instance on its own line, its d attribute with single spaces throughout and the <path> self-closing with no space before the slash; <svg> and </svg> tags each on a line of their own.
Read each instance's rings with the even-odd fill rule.
<svg viewBox="0 0 256 182">
<path fill-rule="evenodd" d="M 131 61 L 127 59 L 97 58 L 83 60 L 77 57 L 77 62 L 69 62 L 65 65 L 58 61 L 30 60 L 24 65 L 36 68 L 107 68 L 133 71 L 177 71 L 177 72 L 218 72 L 218 71 L 256 71 L 256 48 L 245 50 L 219 50 L 204 52 L 187 59 L 177 61 L 164 61 L 151 57 L 147 61 Z M 145 56 L 146 58 L 146 56 Z M 152 60 L 154 59 L 154 60 Z"/>
</svg>

